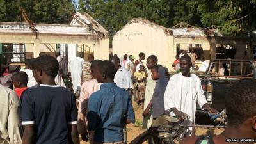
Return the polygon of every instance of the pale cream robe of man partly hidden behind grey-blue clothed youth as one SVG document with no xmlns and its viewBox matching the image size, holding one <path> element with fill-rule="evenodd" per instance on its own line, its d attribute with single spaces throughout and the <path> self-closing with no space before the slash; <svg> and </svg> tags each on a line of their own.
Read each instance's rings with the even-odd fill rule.
<svg viewBox="0 0 256 144">
<path fill-rule="evenodd" d="M 156 81 L 154 81 L 151 77 L 151 70 L 147 69 L 147 84 L 146 84 L 146 89 L 145 89 L 145 100 L 144 100 L 144 106 L 143 106 L 143 111 L 147 108 L 150 100 L 153 97 L 153 93 L 156 87 Z M 152 115 L 151 115 L 151 110 L 148 116 L 143 117 L 143 129 L 149 129 L 152 125 Z"/>
</svg>

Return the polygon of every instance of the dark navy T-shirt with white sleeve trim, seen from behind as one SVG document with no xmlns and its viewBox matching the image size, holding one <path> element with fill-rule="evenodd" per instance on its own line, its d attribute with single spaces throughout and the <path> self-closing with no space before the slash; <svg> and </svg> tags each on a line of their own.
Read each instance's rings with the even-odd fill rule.
<svg viewBox="0 0 256 144">
<path fill-rule="evenodd" d="M 36 144 L 68 143 L 68 124 L 77 124 L 76 97 L 60 86 L 30 88 L 22 98 L 22 125 L 29 124 Z"/>
</svg>

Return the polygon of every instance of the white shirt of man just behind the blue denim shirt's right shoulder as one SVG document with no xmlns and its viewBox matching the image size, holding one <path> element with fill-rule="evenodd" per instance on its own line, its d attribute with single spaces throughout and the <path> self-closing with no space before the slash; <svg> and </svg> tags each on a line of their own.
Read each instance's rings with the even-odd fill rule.
<svg viewBox="0 0 256 144">
<path fill-rule="evenodd" d="M 115 74 L 114 82 L 118 87 L 124 88 L 125 90 L 132 88 L 131 74 L 128 70 L 126 70 L 123 67 L 120 67 L 117 70 Z"/>
</svg>

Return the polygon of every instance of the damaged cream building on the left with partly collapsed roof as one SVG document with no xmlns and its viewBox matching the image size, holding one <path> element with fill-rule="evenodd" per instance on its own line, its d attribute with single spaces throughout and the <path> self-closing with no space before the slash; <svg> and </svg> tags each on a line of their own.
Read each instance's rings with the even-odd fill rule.
<svg viewBox="0 0 256 144">
<path fill-rule="evenodd" d="M 70 62 L 79 52 L 108 60 L 108 31 L 87 13 L 75 13 L 69 25 L 0 22 L 0 53 L 24 63 L 40 52 L 60 52 Z"/>
</svg>

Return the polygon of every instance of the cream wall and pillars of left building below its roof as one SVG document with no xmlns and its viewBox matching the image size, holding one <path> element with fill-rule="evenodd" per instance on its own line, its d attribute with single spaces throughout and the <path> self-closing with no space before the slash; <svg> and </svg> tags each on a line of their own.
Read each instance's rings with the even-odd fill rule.
<svg viewBox="0 0 256 144">
<path fill-rule="evenodd" d="M 23 43 L 26 49 L 26 58 L 36 58 L 40 52 L 46 52 L 54 56 L 56 52 L 56 44 L 85 44 L 89 47 L 90 53 L 94 53 L 96 59 L 108 60 L 109 44 L 108 38 L 99 40 L 92 35 L 40 35 L 38 39 L 32 33 L 0 33 L 0 43 Z M 74 45 L 70 46 L 72 53 L 76 52 Z M 68 47 L 68 50 L 70 50 Z M 87 52 L 88 53 L 88 52 Z"/>
</svg>

